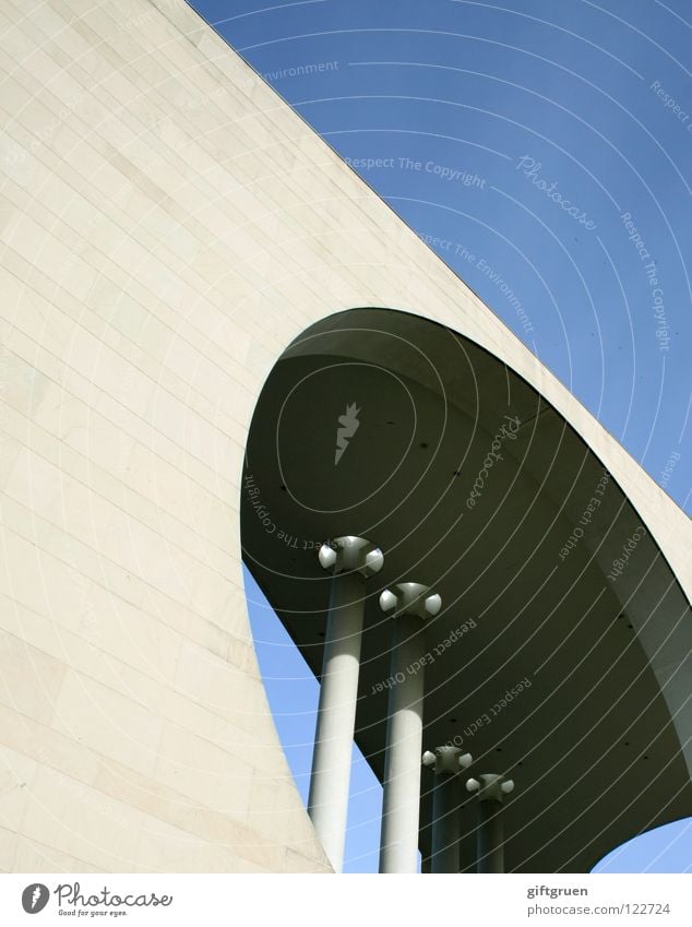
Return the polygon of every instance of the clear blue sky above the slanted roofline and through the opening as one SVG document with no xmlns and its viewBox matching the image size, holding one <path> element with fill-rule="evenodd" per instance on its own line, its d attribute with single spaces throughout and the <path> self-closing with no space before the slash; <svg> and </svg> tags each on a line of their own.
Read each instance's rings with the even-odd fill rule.
<svg viewBox="0 0 692 927">
<path fill-rule="evenodd" d="M 192 5 L 690 512 L 690 4 Z M 251 616 L 305 794 L 317 684 L 276 618 Z M 377 866 L 369 775 L 358 759 L 353 870 Z M 671 839 L 611 866 L 690 866 L 690 831 Z"/>
</svg>

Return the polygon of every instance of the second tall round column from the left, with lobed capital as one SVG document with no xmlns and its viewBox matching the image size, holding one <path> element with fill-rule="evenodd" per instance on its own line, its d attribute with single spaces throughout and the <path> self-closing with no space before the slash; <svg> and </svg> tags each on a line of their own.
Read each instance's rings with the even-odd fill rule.
<svg viewBox="0 0 692 927">
<path fill-rule="evenodd" d="M 442 602 L 428 586 L 401 583 L 380 596 L 393 613 L 390 700 L 384 756 L 380 872 L 416 872 L 422 749 L 422 622 Z M 413 669 L 411 669 L 413 667 Z"/>
</svg>

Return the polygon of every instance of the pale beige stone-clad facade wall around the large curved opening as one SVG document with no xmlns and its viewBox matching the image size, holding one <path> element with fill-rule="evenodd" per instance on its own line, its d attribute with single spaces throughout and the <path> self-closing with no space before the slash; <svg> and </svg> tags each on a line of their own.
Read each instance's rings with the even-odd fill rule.
<svg viewBox="0 0 692 927">
<path fill-rule="evenodd" d="M 3 0 L 0 28 L 0 869 L 324 870 L 239 548 L 296 335 L 444 322 L 587 438 L 688 591 L 689 522 L 183 0 Z"/>
</svg>

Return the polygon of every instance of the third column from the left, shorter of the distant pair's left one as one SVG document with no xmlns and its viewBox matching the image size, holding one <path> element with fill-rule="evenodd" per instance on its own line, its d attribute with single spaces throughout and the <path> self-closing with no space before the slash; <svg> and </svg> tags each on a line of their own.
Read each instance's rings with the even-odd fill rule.
<svg viewBox="0 0 692 927">
<path fill-rule="evenodd" d="M 458 872 L 461 782 L 458 773 L 472 763 L 470 753 L 445 745 L 422 754 L 423 766 L 434 771 L 432 787 L 432 853 L 430 871 Z"/>
</svg>

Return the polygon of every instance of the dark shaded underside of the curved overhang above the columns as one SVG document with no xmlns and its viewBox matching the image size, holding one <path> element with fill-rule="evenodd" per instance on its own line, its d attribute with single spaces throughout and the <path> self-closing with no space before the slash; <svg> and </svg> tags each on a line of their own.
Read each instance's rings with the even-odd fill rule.
<svg viewBox="0 0 692 927">
<path fill-rule="evenodd" d="M 588 871 L 636 833 L 692 813 L 680 569 L 690 526 L 672 503 L 665 523 L 647 523 L 651 478 L 630 464 L 636 478 L 616 482 L 620 445 L 593 419 L 584 433 L 581 407 L 580 433 L 537 385 L 418 316 L 363 308 L 317 322 L 254 412 L 243 558 L 319 676 L 329 579 L 317 548 L 355 534 L 384 551 L 369 581 L 356 720 L 380 780 L 390 621 L 378 594 L 404 581 L 439 592 L 443 608 L 421 631 L 425 747 L 453 741 L 473 753 L 472 773 L 514 777 L 508 871 Z M 338 419 L 354 404 L 359 424 L 335 463 Z M 423 857 L 430 785 L 423 771 Z"/>
</svg>

